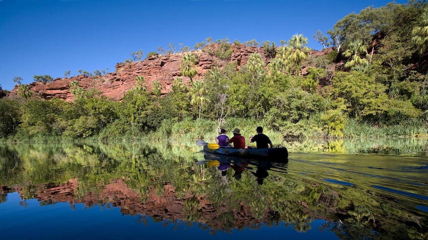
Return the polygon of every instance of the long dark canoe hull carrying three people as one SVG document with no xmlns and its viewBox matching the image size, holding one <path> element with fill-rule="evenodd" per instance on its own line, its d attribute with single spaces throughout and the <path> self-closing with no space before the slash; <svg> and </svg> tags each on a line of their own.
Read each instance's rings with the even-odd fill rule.
<svg viewBox="0 0 428 240">
<path fill-rule="evenodd" d="M 271 161 L 287 161 L 288 151 L 285 147 L 275 148 L 233 148 L 233 147 L 209 147 L 204 145 L 204 151 L 241 158 L 265 159 Z"/>
</svg>

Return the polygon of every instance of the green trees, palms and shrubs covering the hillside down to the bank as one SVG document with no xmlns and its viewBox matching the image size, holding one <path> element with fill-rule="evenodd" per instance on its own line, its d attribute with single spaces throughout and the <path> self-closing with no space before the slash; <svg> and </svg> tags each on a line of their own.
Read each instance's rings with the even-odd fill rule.
<svg viewBox="0 0 428 240">
<path fill-rule="evenodd" d="M 0 99 L 0 142 L 182 145 L 214 142 L 220 128 L 229 135 L 239 128 L 249 144 L 257 126 L 274 145 L 287 147 L 287 139 L 427 139 L 427 16 L 423 0 L 351 13 L 328 31 L 330 39 L 314 35 L 330 49 L 321 56 L 310 55 L 307 38 L 298 34 L 281 45 L 208 38 L 194 51 L 177 53 L 181 77 L 173 79 L 171 92 L 162 94 L 158 80 L 147 88 L 144 76 L 135 76 L 129 80 L 134 88 L 121 101 L 83 89 L 78 81 L 69 88 L 74 101 L 43 99 L 15 77 L 18 96 Z M 237 46 L 257 51 L 238 66 L 231 60 Z M 197 75 L 201 52 L 215 60 L 203 78 Z M 142 50 L 138 53 L 134 61 L 143 60 Z M 101 76 L 98 71 L 92 77 Z M 35 76 L 35 81 L 53 78 Z"/>
</svg>

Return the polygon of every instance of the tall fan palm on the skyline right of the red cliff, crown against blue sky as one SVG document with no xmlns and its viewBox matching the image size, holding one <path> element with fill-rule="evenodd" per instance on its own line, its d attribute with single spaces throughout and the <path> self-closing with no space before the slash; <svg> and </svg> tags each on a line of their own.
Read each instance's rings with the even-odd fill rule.
<svg viewBox="0 0 428 240">
<path fill-rule="evenodd" d="M 290 63 L 297 66 L 296 76 L 300 74 L 300 64 L 305 60 L 308 55 L 310 48 L 305 45 L 308 44 L 308 38 L 303 37 L 302 34 L 295 34 L 288 41 L 289 47 L 292 48 L 293 52 L 288 56 Z"/>
</svg>

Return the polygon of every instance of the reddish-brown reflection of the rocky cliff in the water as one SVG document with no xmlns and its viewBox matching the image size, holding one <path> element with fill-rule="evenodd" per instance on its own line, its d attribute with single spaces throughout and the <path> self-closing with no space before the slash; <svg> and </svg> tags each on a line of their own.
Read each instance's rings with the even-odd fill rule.
<svg viewBox="0 0 428 240">
<path fill-rule="evenodd" d="M 21 199 L 26 199 L 26 187 L 7 188 L 2 187 L 1 195 L 7 192 L 18 192 Z M 214 206 L 207 196 L 188 195 L 177 198 L 174 187 L 163 185 L 164 192 L 161 196 L 156 193 L 156 188 L 147 189 L 148 198 L 143 201 L 141 195 L 128 188 L 126 180 L 116 180 L 102 187 L 99 192 L 88 192 L 84 196 L 78 195 L 78 182 L 75 179 L 61 185 L 32 186 L 32 195 L 38 199 L 40 205 L 55 204 L 57 202 L 70 202 L 84 204 L 87 207 L 100 205 L 106 208 L 120 207 L 120 211 L 126 215 L 143 215 L 159 220 L 175 220 L 199 222 L 206 224 L 214 230 L 227 231 L 241 229 L 248 226 L 256 226 L 269 222 L 266 217 L 255 219 L 249 206 L 239 203 L 239 209 L 230 209 L 226 205 Z M 141 217 L 143 217 L 141 216 Z"/>
</svg>

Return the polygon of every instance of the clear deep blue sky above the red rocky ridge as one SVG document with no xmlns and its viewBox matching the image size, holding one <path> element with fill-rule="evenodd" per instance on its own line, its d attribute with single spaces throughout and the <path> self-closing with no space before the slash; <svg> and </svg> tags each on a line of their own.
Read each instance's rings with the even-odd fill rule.
<svg viewBox="0 0 428 240">
<path fill-rule="evenodd" d="M 114 71 L 131 52 L 194 48 L 212 37 L 280 43 L 327 31 L 349 13 L 392 0 L 0 0 L 0 85 L 34 75 Z M 407 3 L 407 0 L 396 0 Z M 327 35 L 328 36 L 328 35 Z"/>
</svg>

